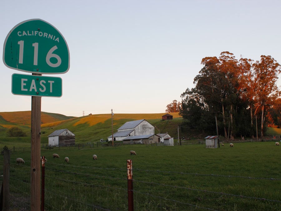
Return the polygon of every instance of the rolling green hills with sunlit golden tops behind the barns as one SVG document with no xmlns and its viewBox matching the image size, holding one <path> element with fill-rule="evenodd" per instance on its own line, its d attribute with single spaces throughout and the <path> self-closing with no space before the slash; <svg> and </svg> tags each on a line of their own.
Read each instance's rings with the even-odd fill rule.
<svg viewBox="0 0 281 211">
<path fill-rule="evenodd" d="M 178 137 L 178 126 L 182 123 L 182 117 L 179 113 L 170 113 L 173 115 L 172 120 L 162 121 L 165 113 L 153 114 L 114 114 L 113 116 L 113 133 L 124 123 L 133 120 L 146 119 L 155 127 L 155 133 L 168 133 L 171 137 Z M 0 112 L 0 143 L 2 141 L 26 142 L 30 144 L 30 111 L 22 112 Z M 91 141 L 99 141 L 101 138 L 107 139 L 112 134 L 111 114 L 93 114 L 83 117 L 67 117 L 62 114 L 46 113 L 41 114 L 41 143 L 48 143 L 48 135 L 58 129 L 69 129 L 75 134 L 76 143 L 85 143 Z M 6 135 L 8 128 L 17 126 L 21 128 L 27 137 L 9 138 Z M 202 139 L 206 135 L 190 130 L 182 133 L 179 127 L 180 137 L 191 139 Z M 281 135 L 280 128 L 268 128 L 269 136 Z"/>
</svg>

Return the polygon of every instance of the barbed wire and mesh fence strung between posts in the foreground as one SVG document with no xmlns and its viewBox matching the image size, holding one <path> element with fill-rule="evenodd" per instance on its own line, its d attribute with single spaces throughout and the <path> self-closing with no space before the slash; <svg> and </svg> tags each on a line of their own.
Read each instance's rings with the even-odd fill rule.
<svg viewBox="0 0 281 211">
<path fill-rule="evenodd" d="M 280 210 L 280 196 L 264 198 L 258 193 L 239 194 L 218 187 L 192 185 L 195 180 L 231 179 L 229 182 L 254 183 L 265 181 L 280 187 L 280 178 L 255 178 L 239 175 L 198 174 L 133 168 L 135 210 L 220 210 L 244 200 L 247 206 L 262 202 L 271 210 Z M 48 165 L 45 168 L 46 210 L 128 210 L 127 169 L 95 168 L 69 164 Z M 180 175 L 180 176 L 179 176 Z M 159 177 L 159 179 L 155 179 Z M 175 180 L 174 178 L 177 178 Z M 180 183 L 179 181 L 180 180 Z M 157 181 L 157 182 L 155 182 Z M 230 188 L 231 189 L 231 188 Z M 227 190 L 227 191 L 225 191 Z M 264 190 L 265 192 L 268 192 Z M 30 210 L 30 162 L 11 163 L 10 206 Z M 229 203 L 229 201 L 234 201 Z M 229 203 L 229 204 L 228 204 Z M 246 206 L 245 205 L 245 206 Z M 252 207 L 253 208 L 253 207 Z"/>
</svg>

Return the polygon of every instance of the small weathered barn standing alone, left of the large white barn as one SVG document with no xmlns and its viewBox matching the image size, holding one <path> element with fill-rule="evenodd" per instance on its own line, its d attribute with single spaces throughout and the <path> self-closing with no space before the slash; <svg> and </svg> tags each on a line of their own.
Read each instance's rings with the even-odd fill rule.
<svg viewBox="0 0 281 211">
<path fill-rule="evenodd" d="M 75 145 L 75 135 L 68 129 L 60 129 L 48 136 L 49 146 L 72 146 Z"/>
</svg>

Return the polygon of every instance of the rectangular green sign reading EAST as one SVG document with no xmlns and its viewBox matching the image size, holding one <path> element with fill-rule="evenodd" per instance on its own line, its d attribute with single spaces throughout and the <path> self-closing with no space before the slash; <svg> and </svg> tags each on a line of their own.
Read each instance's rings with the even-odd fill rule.
<svg viewBox="0 0 281 211">
<path fill-rule="evenodd" d="M 12 74 L 12 93 L 29 96 L 61 97 L 62 78 Z"/>
</svg>

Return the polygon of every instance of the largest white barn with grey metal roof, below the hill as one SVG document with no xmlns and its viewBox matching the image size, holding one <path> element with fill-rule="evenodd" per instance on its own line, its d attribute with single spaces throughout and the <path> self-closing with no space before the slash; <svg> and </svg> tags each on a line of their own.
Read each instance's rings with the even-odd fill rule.
<svg viewBox="0 0 281 211">
<path fill-rule="evenodd" d="M 129 136 L 153 135 L 154 126 L 147 122 L 145 119 L 126 122 L 117 132 L 113 134 L 114 141 L 123 141 L 124 138 Z M 112 141 L 112 135 L 109 136 L 108 141 Z"/>
</svg>

